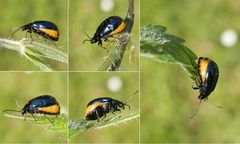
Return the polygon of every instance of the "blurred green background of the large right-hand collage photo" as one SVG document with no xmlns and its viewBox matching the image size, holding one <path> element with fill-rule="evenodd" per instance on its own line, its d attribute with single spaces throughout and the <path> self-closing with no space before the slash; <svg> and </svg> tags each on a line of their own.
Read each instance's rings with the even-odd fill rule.
<svg viewBox="0 0 240 144">
<path fill-rule="evenodd" d="M 239 34 L 239 7 L 238 0 L 141 0 L 141 26 L 167 27 L 198 56 L 213 59 L 220 71 L 208 102 L 189 119 L 199 93 L 187 73 L 179 65 L 141 57 L 141 142 L 240 142 L 240 45 L 220 43 L 225 29 Z"/>
</svg>

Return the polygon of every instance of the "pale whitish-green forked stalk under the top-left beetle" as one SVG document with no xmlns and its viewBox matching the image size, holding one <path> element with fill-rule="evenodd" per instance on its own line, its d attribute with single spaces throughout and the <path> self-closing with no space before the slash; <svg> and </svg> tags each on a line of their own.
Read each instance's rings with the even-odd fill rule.
<svg viewBox="0 0 240 144">
<path fill-rule="evenodd" d="M 62 63 L 68 63 L 68 55 L 55 45 L 40 43 L 33 39 L 22 39 L 19 41 L 0 38 L 0 47 L 19 52 L 42 71 L 53 71 L 53 69 L 40 60 L 40 57 L 52 59 Z"/>
</svg>

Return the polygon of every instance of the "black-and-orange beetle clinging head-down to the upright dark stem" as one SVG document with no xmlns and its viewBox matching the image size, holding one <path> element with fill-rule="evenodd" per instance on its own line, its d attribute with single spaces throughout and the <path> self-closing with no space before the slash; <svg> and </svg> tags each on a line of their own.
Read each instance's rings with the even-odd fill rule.
<svg viewBox="0 0 240 144">
<path fill-rule="evenodd" d="M 105 19 L 97 28 L 92 38 L 83 41 L 90 41 L 91 44 L 98 42 L 98 45 L 102 47 L 102 39 L 107 41 L 109 37 L 115 34 L 119 34 L 126 29 L 127 25 L 124 20 L 119 16 L 110 16 Z"/>
</svg>

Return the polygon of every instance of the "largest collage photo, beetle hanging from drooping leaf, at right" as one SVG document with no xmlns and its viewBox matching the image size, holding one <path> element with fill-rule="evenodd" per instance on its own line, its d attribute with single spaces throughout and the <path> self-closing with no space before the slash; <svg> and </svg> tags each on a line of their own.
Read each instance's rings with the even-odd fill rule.
<svg viewBox="0 0 240 144">
<path fill-rule="evenodd" d="M 239 143 L 239 6 L 141 0 L 142 143 Z"/>
</svg>

